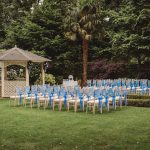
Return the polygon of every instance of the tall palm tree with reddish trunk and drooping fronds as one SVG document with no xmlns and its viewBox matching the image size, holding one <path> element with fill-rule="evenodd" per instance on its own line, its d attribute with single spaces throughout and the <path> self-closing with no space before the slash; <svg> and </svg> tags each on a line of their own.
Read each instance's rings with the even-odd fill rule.
<svg viewBox="0 0 150 150">
<path fill-rule="evenodd" d="M 103 37 L 103 18 L 100 15 L 99 3 L 87 3 L 83 6 L 77 3 L 71 7 L 65 18 L 65 36 L 70 40 L 82 40 L 83 50 L 83 86 L 87 83 L 88 46 L 94 36 Z"/>
</svg>

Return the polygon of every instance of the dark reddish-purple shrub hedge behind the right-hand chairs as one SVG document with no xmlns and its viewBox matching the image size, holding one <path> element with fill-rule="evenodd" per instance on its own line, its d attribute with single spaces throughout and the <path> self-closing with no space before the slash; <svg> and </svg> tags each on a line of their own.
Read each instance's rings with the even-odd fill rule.
<svg viewBox="0 0 150 150">
<path fill-rule="evenodd" d="M 115 79 L 115 78 L 143 78 L 150 79 L 149 65 L 123 64 L 110 62 L 107 59 L 96 60 L 89 64 L 88 78 Z"/>
</svg>

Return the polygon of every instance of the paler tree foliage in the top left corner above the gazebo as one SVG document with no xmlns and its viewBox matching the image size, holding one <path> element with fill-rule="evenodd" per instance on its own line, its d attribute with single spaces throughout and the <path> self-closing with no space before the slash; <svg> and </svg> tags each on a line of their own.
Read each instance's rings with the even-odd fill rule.
<svg viewBox="0 0 150 150">
<path fill-rule="evenodd" d="M 14 21 L 27 16 L 37 0 L 0 0 L 0 42 L 6 37 L 6 30 Z M 0 43 L 0 47 L 2 43 Z"/>
</svg>

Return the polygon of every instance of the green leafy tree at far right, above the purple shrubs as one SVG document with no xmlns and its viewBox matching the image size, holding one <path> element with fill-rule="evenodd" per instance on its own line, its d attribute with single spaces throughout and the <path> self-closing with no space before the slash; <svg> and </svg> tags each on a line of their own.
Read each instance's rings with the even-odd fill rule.
<svg viewBox="0 0 150 150">
<path fill-rule="evenodd" d="M 112 24 L 109 28 L 111 50 L 116 60 L 141 64 L 150 54 L 150 5 L 146 0 L 121 0 L 119 7 L 108 11 Z M 110 3 L 111 4 L 111 3 Z"/>
</svg>

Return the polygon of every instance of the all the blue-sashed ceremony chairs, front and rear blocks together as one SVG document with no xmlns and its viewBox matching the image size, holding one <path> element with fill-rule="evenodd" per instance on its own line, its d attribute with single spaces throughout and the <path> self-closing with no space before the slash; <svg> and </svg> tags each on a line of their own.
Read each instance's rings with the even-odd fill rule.
<svg viewBox="0 0 150 150">
<path fill-rule="evenodd" d="M 107 79 L 88 80 L 83 88 L 79 85 L 32 85 L 24 89 L 17 87 L 16 95 L 10 96 L 10 99 L 14 99 L 14 106 L 17 103 L 52 110 L 57 106 L 59 111 L 64 108 L 69 112 L 73 108 L 74 112 L 90 110 L 95 114 L 97 109 L 103 113 L 104 108 L 109 111 L 110 108 L 116 110 L 118 106 L 121 108 L 123 104 L 126 106 L 128 94 L 149 95 L 150 83 L 146 79 Z"/>
</svg>

